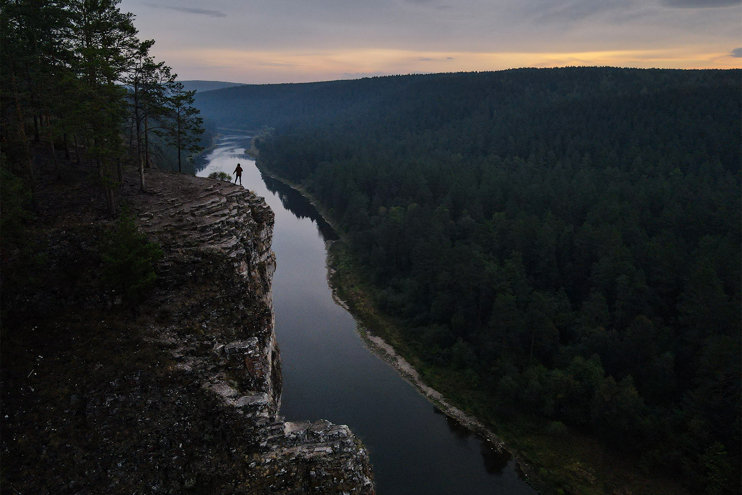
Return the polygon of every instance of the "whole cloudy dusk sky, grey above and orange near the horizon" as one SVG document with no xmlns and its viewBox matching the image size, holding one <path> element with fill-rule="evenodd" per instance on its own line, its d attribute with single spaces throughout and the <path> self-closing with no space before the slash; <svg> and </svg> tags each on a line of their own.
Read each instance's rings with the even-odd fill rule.
<svg viewBox="0 0 742 495">
<path fill-rule="evenodd" d="M 122 0 L 179 79 L 742 67 L 742 0 Z"/>
</svg>

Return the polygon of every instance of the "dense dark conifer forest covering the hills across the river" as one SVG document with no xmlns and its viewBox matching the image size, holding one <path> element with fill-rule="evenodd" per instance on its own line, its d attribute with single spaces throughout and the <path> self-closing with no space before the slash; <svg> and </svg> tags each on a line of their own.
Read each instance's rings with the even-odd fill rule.
<svg viewBox="0 0 742 495">
<path fill-rule="evenodd" d="M 519 69 L 197 95 L 347 233 L 425 366 L 736 493 L 741 71 Z M 565 426 L 566 425 L 566 426 Z"/>
</svg>

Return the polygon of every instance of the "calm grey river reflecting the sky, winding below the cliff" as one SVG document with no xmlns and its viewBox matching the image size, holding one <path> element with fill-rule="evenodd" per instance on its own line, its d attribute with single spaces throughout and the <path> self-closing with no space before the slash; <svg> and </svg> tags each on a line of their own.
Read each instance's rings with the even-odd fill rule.
<svg viewBox="0 0 742 495">
<path fill-rule="evenodd" d="M 367 446 L 378 495 L 510 494 L 536 491 L 508 454 L 496 453 L 367 349 L 351 315 L 332 301 L 325 239 L 332 229 L 301 194 L 261 177 L 245 137 L 223 137 L 206 168 L 232 174 L 275 212 L 276 338 L 283 367 L 281 413 L 289 421 L 347 424 Z"/>
</svg>

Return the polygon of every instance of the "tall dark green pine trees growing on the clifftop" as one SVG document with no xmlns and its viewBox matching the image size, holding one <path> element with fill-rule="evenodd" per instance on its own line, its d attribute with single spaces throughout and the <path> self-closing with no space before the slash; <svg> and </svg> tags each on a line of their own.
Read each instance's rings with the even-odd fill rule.
<svg viewBox="0 0 742 495">
<path fill-rule="evenodd" d="M 141 40 L 134 15 L 117 0 L 9 0 L 0 16 L 0 134 L 7 183 L 18 182 L 38 207 L 37 148 L 46 148 L 58 179 L 65 160 L 88 163 L 114 214 L 122 163 L 134 155 L 141 189 L 145 168 L 193 171 L 203 148 L 202 119 L 164 62 Z M 210 134 L 206 135 L 208 145 Z M 15 181 L 15 182 L 14 182 Z M 4 201 L 19 201 L 15 194 Z M 5 203 L 3 203 L 5 204 Z"/>
</svg>

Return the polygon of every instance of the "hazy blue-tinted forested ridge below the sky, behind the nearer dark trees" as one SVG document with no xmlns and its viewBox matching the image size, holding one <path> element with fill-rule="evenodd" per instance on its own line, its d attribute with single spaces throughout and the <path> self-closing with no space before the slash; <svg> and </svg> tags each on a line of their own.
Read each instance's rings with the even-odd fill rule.
<svg viewBox="0 0 742 495">
<path fill-rule="evenodd" d="M 382 76 L 240 85 L 199 93 L 195 105 L 219 127 L 323 128 L 390 154 L 527 159 L 554 148 L 558 157 L 616 163 L 614 154 L 652 162 L 697 151 L 739 170 L 739 118 L 729 109 L 738 108 L 740 74 L 585 67 Z"/>
</svg>

